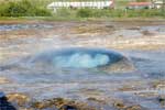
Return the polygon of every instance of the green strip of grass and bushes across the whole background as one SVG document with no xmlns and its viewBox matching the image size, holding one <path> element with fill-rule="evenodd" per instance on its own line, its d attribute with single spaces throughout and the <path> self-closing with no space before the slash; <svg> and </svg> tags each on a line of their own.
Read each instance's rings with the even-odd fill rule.
<svg viewBox="0 0 165 110">
<path fill-rule="evenodd" d="M 116 20 L 116 19 L 164 19 L 165 12 L 156 9 L 124 10 L 122 9 L 46 9 L 50 1 L 16 0 L 0 3 L 0 20 Z"/>
</svg>

